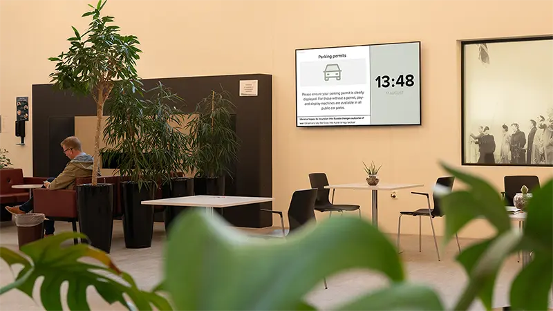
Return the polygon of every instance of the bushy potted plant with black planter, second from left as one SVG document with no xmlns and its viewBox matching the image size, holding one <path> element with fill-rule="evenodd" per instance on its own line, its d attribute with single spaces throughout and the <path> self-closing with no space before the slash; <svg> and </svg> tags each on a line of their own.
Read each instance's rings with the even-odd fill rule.
<svg viewBox="0 0 553 311">
<path fill-rule="evenodd" d="M 149 91 L 139 89 L 134 93 L 129 89 L 131 84 L 118 86 L 106 106 L 107 147 L 102 149 L 102 155 L 106 162 L 115 163 L 122 177 L 126 247 L 150 247 L 154 207 L 141 202 L 152 200 L 160 187 L 167 189 L 169 197 L 194 191 L 190 178 L 177 176 L 188 165 L 188 140 L 180 131 L 181 113 L 171 105 L 180 97 L 161 83 Z"/>
</svg>

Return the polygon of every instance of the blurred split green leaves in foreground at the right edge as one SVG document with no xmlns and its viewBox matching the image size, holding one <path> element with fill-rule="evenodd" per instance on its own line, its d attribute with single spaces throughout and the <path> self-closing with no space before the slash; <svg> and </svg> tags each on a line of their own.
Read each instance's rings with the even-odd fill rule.
<svg viewBox="0 0 553 311">
<path fill-rule="evenodd" d="M 497 272 L 509 255 L 532 252 L 532 262 L 523 267 L 511 288 L 514 310 L 545 311 L 553 283 L 553 180 L 534 191 L 527 209 L 523 232 L 512 227 L 499 192 L 487 182 L 444 166 L 467 190 L 442 198 L 446 214 L 446 234 L 451 238 L 471 220 L 485 218 L 496 229 L 491 238 L 473 245 L 458 256 L 469 274 L 469 283 L 454 310 L 467 310 L 476 296 L 491 309 Z"/>
</svg>

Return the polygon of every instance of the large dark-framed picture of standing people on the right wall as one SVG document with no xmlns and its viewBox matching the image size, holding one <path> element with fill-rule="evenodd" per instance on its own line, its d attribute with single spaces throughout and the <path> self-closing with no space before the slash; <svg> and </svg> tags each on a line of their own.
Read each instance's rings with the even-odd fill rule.
<svg viewBox="0 0 553 311">
<path fill-rule="evenodd" d="M 553 37 L 461 48 L 462 164 L 553 166 Z"/>
</svg>

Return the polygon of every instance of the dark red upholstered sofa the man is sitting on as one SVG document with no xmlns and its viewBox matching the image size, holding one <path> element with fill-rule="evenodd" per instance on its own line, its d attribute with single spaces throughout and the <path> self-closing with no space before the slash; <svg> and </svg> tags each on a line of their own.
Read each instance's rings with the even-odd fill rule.
<svg viewBox="0 0 553 311">
<path fill-rule="evenodd" d="M 91 177 L 77 178 L 75 185 L 91 183 Z M 113 217 L 121 216 L 120 204 L 120 177 L 102 176 L 98 177 L 98 183 L 113 184 Z M 51 220 L 60 220 L 73 223 L 73 231 L 77 231 L 77 191 L 76 190 L 48 190 L 35 189 L 34 210 L 36 213 L 43 213 Z"/>
</svg>

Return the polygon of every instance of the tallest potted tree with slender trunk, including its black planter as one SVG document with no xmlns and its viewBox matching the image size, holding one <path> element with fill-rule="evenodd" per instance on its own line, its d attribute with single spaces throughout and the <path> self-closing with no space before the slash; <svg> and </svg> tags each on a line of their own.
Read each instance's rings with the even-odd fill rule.
<svg viewBox="0 0 553 311">
<path fill-rule="evenodd" d="M 50 61 L 56 62 L 55 71 L 50 74 L 54 87 L 91 96 L 96 103 L 93 172 L 99 171 L 102 115 L 115 82 L 140 84 L 135 69 L 141 53 L 140 43 L 133 35 L 120 35 L 119 26 L 113 25 L 113 17 L 102 16 L 105 5 L 105 0 L 98 1 L 96 6 L 89 5 L 91 10 L 83 15 L 92 17 L 86 32 L 81 35 L 73 27 L 75 36 L 68 39 L 71 44 L 68 50 L 58 57 L 50 57 Z M 100 226 L 97 219 L 113 216 L 113 185 L 98 184 L 97 174 L 93 173 L 91 184 L 77 186 L 77 209 L 82 232 L 97 230 Z M 111 227 L 104 229 L 111 230 Z"/>
</svg>

